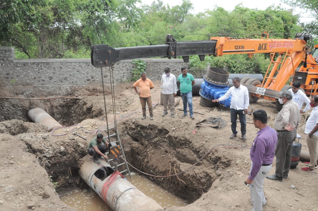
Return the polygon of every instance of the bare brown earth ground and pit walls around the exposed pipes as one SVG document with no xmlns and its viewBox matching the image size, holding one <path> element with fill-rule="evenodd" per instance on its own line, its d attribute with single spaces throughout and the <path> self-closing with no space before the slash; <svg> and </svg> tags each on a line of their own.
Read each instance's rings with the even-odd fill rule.
<svg viewBox="0 0 318 211">
<path fill-rule="evenodd" d="M 221 107 L 203 107 L 199 96 L 193 97 L 194 111 L 198 112 L 195 120 L 190 117 L 180 119 L 183 112 L 178 109 L 183 108 L 182 100 L 176 106 L 175 118 L 162 117 L 160 82 L 154 81 L 154 84 L 155 88 L 151 90 L 152 101 L 156 104 L 154 120 L 149 119 L 148 113 L 147 119 L 141 119 L 139 98 L 130 82 L 114 87 L 115 107 L 107 88 L 107 118 L 100 85 L 78 89 L 74 94 L 81 97 L 79 100 L 38 101 L 37 106 L 43 106 L 62 125 L 69 126 L 53 131 L 53 135 L 43 126 L 22 121 L 27 118 L 17 120 L 5 116 L 11 120 L 0 122 L 0 210 L 29 210 L 32 207 L 35 210 L 73 210 L 59 200 L 57 192 L 85 186 L 77 171 L 81 159 L 90 159 L 86 155 L 88 141 L 96 133 L 96 127 L 111 125 L 114 119 L 117 119 L 126 158 L 136 168 L 157 176 L 181 172 L 168 177 L 147 176 L 161 187 L 193 202 L 186 207 L 167 210 L 251 210 L 250 193 L 244 181 L 251 165 L 249 146 L 258 131 L 252 120 L 247 119 L 247 140 L 244 142 L 239 138 L 240 134 L 236 139 L 229 139 L 230 113 Z M 8 104 L 4 114 L 11 112 L 10 115 L 15 117 L 23 117 L 24 111 L 35 105 L 35 102 L 19 104 L 17 100 L 3 100 L 0 104 L 8 102 L 24 106 L 17 110 L 21 115 L 17 115 Z M 266 110 L 272 119 L 269 126 L 273 127 L 276 105 L 259 99 L 253 106 Z M 219 116 L 227 122 L 225 128 L 202 127 L 194 133 L 197 122 Z M 301 121 L 304 122 L 303 117 Z M 73 135 L 74 131 L 87 140 Z M 308 150 L 301 127 L 298 133 L 302 137 L 302 150 Z M 283 182 L 265 180 L 267 205 L 263 210 L 318 210 L 316 187 L 310 185 L 315 184 L 318 176 L 302 172 L 300 167 L 303 166 L 300 163 L 292 169 Z M 275 165 L 270 174 L 274 171 Z"/>
</svg>

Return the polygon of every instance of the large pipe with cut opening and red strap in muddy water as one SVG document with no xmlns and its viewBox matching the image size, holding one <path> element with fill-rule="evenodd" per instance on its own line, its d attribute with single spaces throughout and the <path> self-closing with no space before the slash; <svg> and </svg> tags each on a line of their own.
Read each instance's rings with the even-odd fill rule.
<svg viewBox="0 0 318 211">
<path fill-rule="evenodd" d="M 113 211 L 163 210 L 156 201 L 116 173 L 118 171 L 114 171 L 105 160 L 100 164 L 86 161 L 79 169 L 81 178 Z"/>
</svg>

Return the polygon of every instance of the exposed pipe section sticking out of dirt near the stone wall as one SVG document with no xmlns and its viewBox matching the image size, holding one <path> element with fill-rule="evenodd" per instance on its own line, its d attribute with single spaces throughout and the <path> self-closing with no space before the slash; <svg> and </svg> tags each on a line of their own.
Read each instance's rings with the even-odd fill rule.
<svg viewBox="0 0 318 211">
<path fill-rule="evenodd" d="M 30 109 L 28 115 L 33 122 L 46 126 L 48 130 L 53 130 L 56 127 L 63 127 L 42 108 Z"/>
</svg>

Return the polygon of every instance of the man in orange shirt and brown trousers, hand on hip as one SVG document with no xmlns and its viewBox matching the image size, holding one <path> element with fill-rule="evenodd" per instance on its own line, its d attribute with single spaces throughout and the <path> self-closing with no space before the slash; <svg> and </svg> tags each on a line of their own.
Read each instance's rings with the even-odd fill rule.
<svg viewBox="0 0 318 211">
<path fill-rule="evenodd" d="M 149 108 L 150 120 L 154 119 L 154 113 L 152 108 L 152 100 L 150 95 L 150 89 L 153 89 L 155 86 L 150 79 L 147 78 L 147 73 L 142 72 L 141 78 L 134 83 L 135 92 L 139 95 L 140 104 L 142 108 L 142 118 L 146 119 L 146 102 Z M 137 90 L 137 86 L 139 91 Z"/>
</svg>

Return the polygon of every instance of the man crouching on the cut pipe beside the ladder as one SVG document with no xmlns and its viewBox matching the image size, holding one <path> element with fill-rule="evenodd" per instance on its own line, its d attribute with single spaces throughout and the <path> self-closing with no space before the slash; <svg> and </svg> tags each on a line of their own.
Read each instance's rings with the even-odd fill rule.
<svg viewBox="0 0 318 211">
<path fill-rule="evenodd" d="M 88 146 L 87 146 L 87 153 L 91 156 L 93 156 L 93 162 L 94 163 L 100 163 L 100 160 L 98 158 L 102 159 L 108 159 L 107 155 L 105 153 L 107 150 L 111 147 L 111 144 L 106 141 L 103 134 L 99 133 L 95 138 L 93 138 Z"/>
</svg>

